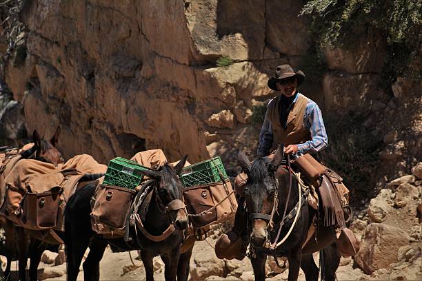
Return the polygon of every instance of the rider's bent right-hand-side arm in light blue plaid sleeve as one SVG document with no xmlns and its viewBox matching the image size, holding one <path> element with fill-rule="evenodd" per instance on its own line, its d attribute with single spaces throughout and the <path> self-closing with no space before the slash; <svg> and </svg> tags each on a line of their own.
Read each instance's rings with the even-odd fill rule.
<svg viewBox="0 0 422 281">
<path fill-rule="evenodd" d="M 303 125 L 310 130 L 311 140 L 297 145 L 302 154 L 314 154 L 328 146 L 328 136 L 325 132 L 321 110 L 314 101 L 310 101 L 305 109 Z"/>
</svg>

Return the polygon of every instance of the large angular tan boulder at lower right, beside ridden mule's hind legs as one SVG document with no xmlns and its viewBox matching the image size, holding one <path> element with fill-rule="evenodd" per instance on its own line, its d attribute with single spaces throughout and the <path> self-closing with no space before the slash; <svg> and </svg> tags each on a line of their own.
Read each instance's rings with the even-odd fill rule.
<svg viewBox="0 0 422 281">
<path fill-rule="evenodd" d="M 409 244 L 410 236 L 402 229 L 390 225 L 372 223 L 365 231 L 361 249 L 354 260 L 367 274 L 388 268 L 398 260 L 400 247 Z"/>
</svg>

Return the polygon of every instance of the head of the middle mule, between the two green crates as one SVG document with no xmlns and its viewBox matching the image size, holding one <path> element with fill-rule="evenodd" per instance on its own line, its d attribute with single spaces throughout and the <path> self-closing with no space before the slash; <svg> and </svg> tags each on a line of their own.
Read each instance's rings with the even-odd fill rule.
<svg viewBox="0 0 422 281">
<path fill-rule="evenodd" d="M 185 155 L 175 167 L 166 164 L 159 171 L 141 171 L 159 183 L 155 188 L 157 202 L 161 205 L 159 207 L 163 209 L 174 227 L 180 230 L 188 227 L 188 213 L 183 202 L 183 185 L 177 176 L 185 165 L 186 158 L 188 155 Z"/>
</svg>

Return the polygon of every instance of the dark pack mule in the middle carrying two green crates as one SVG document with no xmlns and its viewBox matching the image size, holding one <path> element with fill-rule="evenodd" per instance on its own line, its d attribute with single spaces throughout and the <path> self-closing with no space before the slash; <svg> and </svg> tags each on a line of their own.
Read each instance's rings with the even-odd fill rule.
<svg viewBox="0 0 422 281">
<path fill-rule="evenodd" d="M 165 165 L 159 171 L 143 171 L 143 174 L 153 179 L 153 189 L 148 196 L 145 196 L 137 215 L 144 229 L 152 236 L 160 236 L 170 225 L 174 225 L 175 231 L 165 240 L 159 242 L 150 240 L 141 231 L 139 221 L 130 228 L 132 238 L 130 242 L 125 242 L 123 238 L 106 240 L 91 228 L 90 200 L 94 195 L 95 186 L 87 185 L 70 197 L 65 211 L 65 245 L 69 281 L 77 280 L 83 253 L 88 247 L 90 252 L 83 262 L 84 280 L 99 280 L 99 262 L 107 244 L 119 251 L 140 249 L 146 280 L 154 280 L 152 266 L 154 256 L 161 256 L 165 264 L 165 280 L 176 280 L 176 277 L 178 280 L 188 280 L 188 264 L 181 264 L 178 268 L 181 257 L 180 246 L 185 237 L 184 230 L 188 226 L 188 216 L 184 205 L 172 207 L 176 202 L 179 205 L 183 200 L 183 185 L 177 174 L 185 164 L 186 157 L 174 169 L 170 165 Z"/>
</svg>

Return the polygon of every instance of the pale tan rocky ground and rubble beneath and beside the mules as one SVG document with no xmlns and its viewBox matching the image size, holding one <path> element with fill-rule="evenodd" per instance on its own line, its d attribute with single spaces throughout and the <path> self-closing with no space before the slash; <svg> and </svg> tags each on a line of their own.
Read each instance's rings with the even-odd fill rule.
<svg viewBox="0 0 422 281">
<path fill-rule="evenodd" d="M 388 183 L 371 200 L 368 210 L 358 214 L 351 229 L 361 240 L 361 249 L 354 259 L 341 259 L 337 280 L 422 280 L 421 185 L 422 163 L 419 163 L 412 174 Z M 190 280 L 254 280 L 248 258 L 229 261 L 215 256 L 213 248 L 221 231 L 221 227 L 215 227 L 207 240 L 195 243 Z M 63 251 L 59 254 L 46 251 L 39 267 L 39 279 L 66 280 L 63 256 Z M 101 280 L 144 280 L 145 271 L 137 256 L 136 251 L 131 252 L 132 263 L 129 253 L 112 253 L 108 248 L 100 264 Z M 318 263 L 318 256 L 314 258 Z M 16 262 L 12 269 L 16 275 Z M 163 262 L 159 258 L 154 260 L 154 269 L 155 278 L 164 280 Z M 267 280 L 288 278 L 288 270 L 278 268 L 272 258 L 268 259 L 266 269 Z M 83 280 L 83 272 L 79 280 Z M 299 280 L 305 280 L 303 272 Z"/>
</svg>

